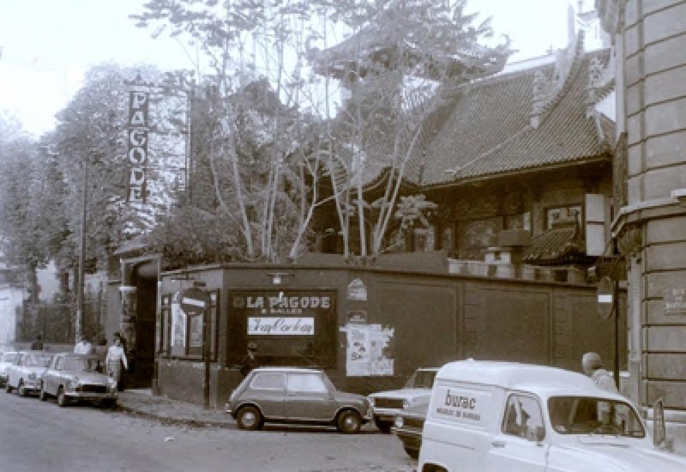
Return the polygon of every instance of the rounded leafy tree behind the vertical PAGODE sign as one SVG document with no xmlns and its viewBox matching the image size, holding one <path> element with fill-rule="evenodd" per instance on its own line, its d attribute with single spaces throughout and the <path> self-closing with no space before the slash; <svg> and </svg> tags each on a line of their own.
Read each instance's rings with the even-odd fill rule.
<svg viewBox="0 0 686 472">
<path fill-rule="evenodd" d="M 72 259 L 79 247 L 82 206 L 86 206 L 86 260 L 104 268 L 111 252 L 132 235 L 147 233 L 156 215 L 176 200 L 183 161 L 182 139 L 178 135 L 178 106 L 151 94 L 148 189 L 145 204 L 126 202 L 127 137 L 130 81 L 143 75 L 146 82 L 163 82 L 162 73 L 152 67 L 137 69 L 101 64 L 86 73 L 84 85 L 57 115 L 56 131 L 49 139 L 56 158 L 56 171 L 65 186 L 64 208 L 69 221 Z M 177 163 L 177 165 L 171 165 Z M 94 269 L 91 267 L 91 270 Z"/>
</svg>

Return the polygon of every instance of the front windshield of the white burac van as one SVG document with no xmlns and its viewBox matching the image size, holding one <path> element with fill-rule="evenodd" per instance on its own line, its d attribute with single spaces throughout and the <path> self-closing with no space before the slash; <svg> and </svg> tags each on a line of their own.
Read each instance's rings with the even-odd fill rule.
<svg viewBox="0 0 686 472">
<path fill-rule="evenodd" d="M 594 397 L 551 397 L 550 423 L 560 434 L 612 434 L 644 438 L 636 412 L 623 401 Z"/>
</svg>

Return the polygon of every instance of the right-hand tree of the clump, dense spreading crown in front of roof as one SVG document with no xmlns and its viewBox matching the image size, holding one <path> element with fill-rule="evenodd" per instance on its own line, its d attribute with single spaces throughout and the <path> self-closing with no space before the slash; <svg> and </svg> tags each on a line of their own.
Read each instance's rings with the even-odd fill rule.
<svg viewBox="0 0 686 472">
<path fill-rule="evenodd" d="M 476 14 L 464 13 L 466 0 L 314 3 L 352 31 L 343 43 L 314 49 L 310 57 L 318 73 L 335 77 L 350 92 L 335 132 L 353 200 L 339 200 L 337 209 L 347 226 L 352 205 L 360 255 L 377 255 L 427 119 L 461 84 L 499 71 L 510 54 L 509 41 L 484 45 L 493 34 L 490 20 L 474 25 Z M 368 202 L 364 185 L 382 170 L 383 193 Z"/>
</svg>

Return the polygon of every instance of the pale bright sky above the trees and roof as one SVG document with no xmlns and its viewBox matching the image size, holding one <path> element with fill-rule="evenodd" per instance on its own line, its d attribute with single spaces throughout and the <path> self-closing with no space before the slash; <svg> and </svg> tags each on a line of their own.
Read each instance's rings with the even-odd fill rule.
<svg viewBox="0 0 686 472">
<path fill-rule="evenodd" d="M 84 71 L 102 62 L 192 69 L 180 44 L 152 38 L 128 14 L 145 0 L 0 0 L 0 111 L 36 135 L 54 128 Z M 567 42 L 570 0 L 468 0 L 467 10 L 493 17 L 519 52 L 510 62 L 542 56 Z M 571 0 L 576 7 L 578 1 Z M 593 0 L 586 0 L 590 7 Z"/>
</svg>

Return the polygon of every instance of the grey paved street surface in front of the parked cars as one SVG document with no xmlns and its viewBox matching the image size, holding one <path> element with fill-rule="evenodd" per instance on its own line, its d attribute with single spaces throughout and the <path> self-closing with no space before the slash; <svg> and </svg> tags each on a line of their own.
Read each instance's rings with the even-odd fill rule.
<svg viewBox="0 0 686 472">
<path fill-rule="evenodd" d="M 394 436 L 191 429 L 0 392 L 0 471 L 412 471 Z"/>
</svg>

